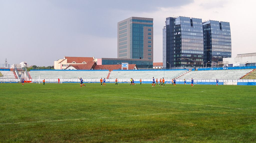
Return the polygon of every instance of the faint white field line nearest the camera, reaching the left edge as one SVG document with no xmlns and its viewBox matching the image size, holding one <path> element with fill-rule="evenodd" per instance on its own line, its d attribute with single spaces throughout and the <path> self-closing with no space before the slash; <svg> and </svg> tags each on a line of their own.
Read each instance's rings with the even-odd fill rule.
<svg viewBox="0 0 256 143">
<path fill-rule="evenodd" d="M 207 111 L 212 112 L 213 110 L 207 110 Z M 80 119 L 43 120 L 43 121 L 31 121 L 31 122 L 13 122 L 13 123 L 0 123 L 0 125 L 44 123 L 44 122 L 63 122 L 63 121 L 83 121 L 83 120 L 91 120 L 91 119 L 113 119 L 113 118 L 127 118 L 127 117 L 138 117 L 138 116 L 153 116 L 153 115 L 163 115 L 163 114 L 200 113 L 200 112 L 206 112 L 206 111 L 169 112 L 169 113 L 154 113 L 154 114 L 142 114 L 142 115 L 129 115 L 129 116 L 120 116 L 120 117 L 100 117 L 100 118 L 80 118 Z"/>
</svg>

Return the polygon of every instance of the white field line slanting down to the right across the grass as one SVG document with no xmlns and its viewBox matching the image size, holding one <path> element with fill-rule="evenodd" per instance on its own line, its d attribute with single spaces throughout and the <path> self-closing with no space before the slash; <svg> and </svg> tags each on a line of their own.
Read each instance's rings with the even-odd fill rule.
<svg viewBox="0 0 256 143">
<path fill-rule="evenodd" d="M 98 96 L 107 96 L 107 95 L 98 95 Z M 130 98 L 130 97 L 119 97 L 119 96 L 107 96 L 107 97 L 118 97 L 118 98 L 128 98 L 128 99 L 138 99 L 138 100 L 147 100 L 147 101 L 158 101 L 158 102 L 179 103 L 179 104 L 189 104 L 189 105 L 199 105 L 199 106 L 208 106 L 208 107 L 218 107 L 218 108 L 229 108 L 229 109 L 238 109 L 238 110 L 242 110 L 242 108 L 225 107 L 225 106 L 214 106 L 214 105 L 203 105 L 203 104 L 193 104 L 193 103 L 182 103 L 182 102 L 164 101 L 164 100 L 153 100 L 153 99 L 142 99 L 142 98 Z"/>
</svg>

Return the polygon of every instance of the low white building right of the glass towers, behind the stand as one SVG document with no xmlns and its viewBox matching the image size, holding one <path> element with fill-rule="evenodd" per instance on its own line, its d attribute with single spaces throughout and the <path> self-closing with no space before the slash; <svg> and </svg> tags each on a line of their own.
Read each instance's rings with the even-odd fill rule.
<svg viewBox="0 0 256 143">
<path fill-rule="evenodd" d="M 238 54 L 236 58 L 223 58 L 223 62 L 219 64 L 225 64 L 229 67 L 234 66 L 255 66 L 256 65 L 256 53 Z"/>
</svg>

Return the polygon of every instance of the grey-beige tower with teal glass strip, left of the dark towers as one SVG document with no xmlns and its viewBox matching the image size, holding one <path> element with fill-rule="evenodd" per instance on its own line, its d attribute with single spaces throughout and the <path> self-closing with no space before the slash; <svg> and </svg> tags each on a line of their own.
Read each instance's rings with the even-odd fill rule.
<svg viewBox="0 0 256 143">
<path fill-rule="evenodd" d="M 130 17 L 118 22 L 117 56 L 153 61 L 153 18 Z"/>
</svg>

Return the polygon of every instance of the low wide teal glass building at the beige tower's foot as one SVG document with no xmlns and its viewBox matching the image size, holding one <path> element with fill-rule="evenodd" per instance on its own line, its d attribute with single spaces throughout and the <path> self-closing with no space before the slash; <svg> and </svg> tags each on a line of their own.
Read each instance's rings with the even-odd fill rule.
<svg viewBox="0 0 256 143">
<path fill-rule="evenodd" d="M 137 68 L 153 68 L 153 61 L 148 59 L 102 58 L 102 65 L 116 65 L 122 62 L 136 64 Z"/>
</svg>

